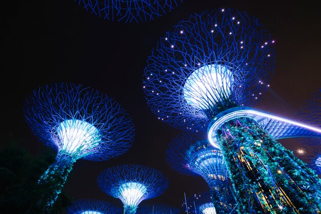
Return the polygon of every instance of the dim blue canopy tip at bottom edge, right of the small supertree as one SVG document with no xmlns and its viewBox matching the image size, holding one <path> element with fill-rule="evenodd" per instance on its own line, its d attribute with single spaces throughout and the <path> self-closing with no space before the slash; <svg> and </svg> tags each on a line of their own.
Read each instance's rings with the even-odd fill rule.
<svg viewBox="0 0 321 214">
<path fill-rule="evenodd" d="M 180 214 L 176 207 L 166 204 L 142 205 L 137 209 L 137 214 Z"/>
</svg>

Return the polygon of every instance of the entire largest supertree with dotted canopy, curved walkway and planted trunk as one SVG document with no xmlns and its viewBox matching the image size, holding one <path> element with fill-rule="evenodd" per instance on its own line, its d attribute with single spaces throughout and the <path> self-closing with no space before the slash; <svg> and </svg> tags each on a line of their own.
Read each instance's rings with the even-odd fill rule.
<svg viewBox="0 0 321 214">
<path fill-rule="evenodd" d="M 161 38 L 148 58 L 143 88 L 158 119 L 182 129 L 208 127 L 239 213 L 319 212 L 319 179 L 276 139 L 321 130 L 245 107 L 269 87 L 273 43 L 245 12 L 194 14 Z"/>
</svg>

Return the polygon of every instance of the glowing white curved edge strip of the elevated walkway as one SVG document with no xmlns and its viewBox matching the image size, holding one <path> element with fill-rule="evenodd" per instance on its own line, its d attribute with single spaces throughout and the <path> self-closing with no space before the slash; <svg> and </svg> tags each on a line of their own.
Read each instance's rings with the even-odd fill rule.
<svg viewBox="0 0 321 214">
<path fill-rule="evenodd" d="M 260 116 L 260 117 L 259 118 L 255 118 L 256 116 Z M 302 128 L 317 132 L 317 133 L 320 134 L 320 137 L 321 137 L 321 129 L 319 129 L 319 128 L 308 126 L 308 125 L 305 125 L 305 124 L 302 124 L 302 123 L 298 123 L 298 122 L 295 122 L 295 121 L 290 121 L 290 120 L 287 120 L 287 119 L 284 119 L 284 118 L 280 118 L 278 116 L 274 116 L 274 115 L 271 115 L 271 114 L 259 112 L 259 111 L 256 111 L 256 110 L 251 110 L 251 109 L 245 109 L 244 110 L 244 109 L 242 109 L 242 110 L 235 110 L 235 111 L 233 111 L 231 113 L 227 113 L 226 115 L 222 116 L 222 118 L 219 118 L 211 126 L 211 128 L 210 128 L 210 130 L 208 132 L 209 142 L 214 147 L 219 148 L 218 144 L 215 142 L 215 139 L 216 139 L 216 130 L 220 127 L 220 125 L 222 125 L 223 123 L 225 123 L 227 121 L 230 121 L 232 119 L 244 118 L 244 117 L 245 118 L 252 118 L 255 121 L 258 121 L 259 119 L 269 118 L 269 119 L 273 119 L 273 120 L 276 120 L 276 121 L 285 122 L 285 123 L 288 123 L 288 124 L 291 124 L 291 125 L 294 125 L 294 126 L 297 126 L 297 127 L 302 127 Z M 216 120 L 216 118 L 214 120 Z M 291 136 L 288 136 L 288 137 L 291 137 Z"/>
</svg>

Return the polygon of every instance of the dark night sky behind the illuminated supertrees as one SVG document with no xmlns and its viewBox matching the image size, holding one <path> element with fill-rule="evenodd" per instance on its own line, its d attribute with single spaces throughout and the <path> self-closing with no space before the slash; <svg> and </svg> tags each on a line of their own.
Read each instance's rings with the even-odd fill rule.
<svg viewBox="0 0 321 214">
<path fill-rule="evenodd" d="M 131 149 L 109 161 L 78 160 L 65 191 L 74 199 L 118 199 L 99 190 L 96 178 L 117 164 L 142 164 L 162 171 L 170 181 L 161 196 L 141 204 L 166 203 L 176 207 L 187 196 L 208 190 L 201 177 L 186 177 L 165 161 L 168 143 L 180 133 L 151 112 L 142 78 L 147 57 L 160 37 L 192 13 L 215 8 L 246 11 L 275 40 L 276 67 L 271 88 L 295 110 L 321 88 L 321 8 L 312 1 L 183 1 L 174 11 L 145 23 L 104 20 L 73 0 L 6 1 L 1 5 L 0 61 L 4 133 L 25 139 L 36 155 L 45 147 L 31 133 L 23 116 L 23 102 L 40 86 L 57 82 L 83 84 L 105 92 L 121 104 L 135 125 Z M 264 104 L 258 104 L 264 108 Z M 265 109 L 268 110 L 268 109 Z M 297 141 L 282 140 L 297 149 Z M 293 146 L 294 145 L 294 146 Z"/>
</svg>

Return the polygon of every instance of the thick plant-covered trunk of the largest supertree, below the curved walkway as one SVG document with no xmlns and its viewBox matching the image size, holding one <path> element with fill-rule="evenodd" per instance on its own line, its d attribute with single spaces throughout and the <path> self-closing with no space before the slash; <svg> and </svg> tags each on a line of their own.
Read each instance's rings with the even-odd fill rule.
<svg viewBox="0 0 321 214">
<path fill-rule="evenodd" d="M 321 182 L 249 118 L 218 130 L 239 213 L 321 213 Z"/>
</svg>

